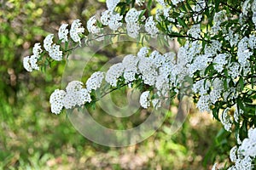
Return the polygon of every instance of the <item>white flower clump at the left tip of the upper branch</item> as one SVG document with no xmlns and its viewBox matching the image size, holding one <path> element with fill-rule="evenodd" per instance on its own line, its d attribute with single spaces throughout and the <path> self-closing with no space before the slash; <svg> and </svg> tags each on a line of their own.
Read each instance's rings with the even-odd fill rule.
<svg viewBox="0 0 256 170">
<path fill-rule="evenodd" d="M 23 59 L 24 68 L 26 69 L 26 71 L 30 72 L 33 70 L 39 70 L 38 59 L 40 57 L 40 54 L 43 52 L 40 43 L 35 43 L 32 52 L 32 56 L 26 56 Z"/>
</svg>

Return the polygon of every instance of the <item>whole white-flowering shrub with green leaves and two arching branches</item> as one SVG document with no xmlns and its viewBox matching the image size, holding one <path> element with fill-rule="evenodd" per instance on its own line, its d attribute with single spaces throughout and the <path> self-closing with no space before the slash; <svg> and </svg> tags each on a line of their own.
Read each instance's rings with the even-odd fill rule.
<svg viewBox="0 0 256 170">
<path fill-rule="evenodd" d="M 183 93 L 189 83 L 199 111 L 207 111 L 235 133 L 229 169 L 253 169 L 256 156 L 256 1 L 222 0 L 107 0 L 107 10 L 92 16 L 84 29 L 80 20 L 60 26 L 58 40 L 50 34 L 44 49 L 36 43 L 32 56 L 23 59 L 26 71 L 46 69 L 52 62 L 68 59 L 76 48 L 127 34 L 140 42 L 156 38 L 180 44 L 177 54 L 161 54 L 150 47 L 128 54 L 107 72 L 98 71 L 87 82 L 69 82 L 49 98 L 51 111 L 90 107 L 96 91 L 103 94 L 123 86 L 138 88 L 140 104 L 160 108 L 162 101 Z M 125 23 L 125 25 L 123 25 Z M 105 35 L 104 28 L 111 32 Z M 164 38 L 163 38 L 164 37 Z M 188 81 L 191 80 L 191 81 Z M 102 88 L 106 84 L 110 89 Z M 212 167 L 215 168 L 216 165 Z M 217 166 L 218 167 L 218 166 Z"/>
</svg>

